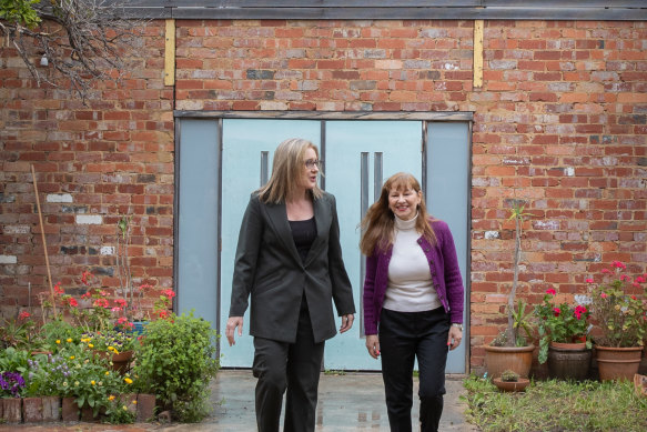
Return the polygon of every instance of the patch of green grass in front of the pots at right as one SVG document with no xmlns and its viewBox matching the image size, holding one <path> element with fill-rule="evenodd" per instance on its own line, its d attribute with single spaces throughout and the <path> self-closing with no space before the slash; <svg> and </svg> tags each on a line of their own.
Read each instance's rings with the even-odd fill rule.
<svg viewBox="0 0 647 432">
<path fill-rule="evenodd" d="M 647 431 L 647 398 L 628 381 L 534 381 L 524 393 L 503 393 L 472 375 L 464 386 L 466 419 L 484 432 Z"/>
</svg>

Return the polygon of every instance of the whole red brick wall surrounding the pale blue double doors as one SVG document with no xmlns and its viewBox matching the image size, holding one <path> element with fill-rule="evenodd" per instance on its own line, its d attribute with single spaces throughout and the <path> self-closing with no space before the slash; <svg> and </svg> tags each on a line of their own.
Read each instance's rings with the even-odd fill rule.
<svg viewBox="0 0 647 432">
<path fill-rule="evenodd" d="M 3 308 L 24 303 L 28 281 L 44 284 L 32 161 L 43 194 L 73 200 L 43 209 L 60 278 L 108 267 L 92 248 L 131 211 L 143 225 L 138 275 L 172 284 L 173 99 L 180 110 L 474 112 L 475 370 L 504 323 L 513 200 L 534 214 L 520 277 L 530 302 L 547 288 L 584 293 L 611 260 L 647 270 L 646 22 L 486 21 L 475 89 L 472 21 L 176 21 L 174 93 L 161 82 L 162 28 L 151 23 L 143 42 L 151 60 L 90 109 L 34 89 L 1 54 Z"/>
</svg>

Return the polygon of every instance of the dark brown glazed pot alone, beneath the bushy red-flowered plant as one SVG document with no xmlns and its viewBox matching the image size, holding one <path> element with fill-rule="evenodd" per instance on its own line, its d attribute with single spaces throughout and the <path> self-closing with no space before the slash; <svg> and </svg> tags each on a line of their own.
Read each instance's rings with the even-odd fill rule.
<svg viewBox="0 0 647 432">
<path fill-rule="evenodd" d="M 588 378 L 592 350 L 586 343 L 550 342 L 548 346 L 548 373 L 558 380 L 583 381 Z"/>
</svg>

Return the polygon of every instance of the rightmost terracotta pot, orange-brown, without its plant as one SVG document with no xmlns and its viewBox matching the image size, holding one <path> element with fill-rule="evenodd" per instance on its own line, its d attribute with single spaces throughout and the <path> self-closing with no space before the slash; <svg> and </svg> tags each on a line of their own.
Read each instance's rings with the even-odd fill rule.
<svg viewBox="0 0 647 432">
<path fill-rule="evenodd" d="M 600 381 L 633 380 L 640 368 L 643 346 L 595 346 Z"/>
</svg>

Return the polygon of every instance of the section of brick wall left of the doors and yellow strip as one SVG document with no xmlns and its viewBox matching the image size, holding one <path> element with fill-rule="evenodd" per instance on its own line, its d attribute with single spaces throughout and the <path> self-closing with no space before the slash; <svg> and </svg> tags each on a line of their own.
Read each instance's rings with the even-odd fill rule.
<svg viewBox="0 0 647 432">
<path fill-rule="evenodd" d="M 164 23 L 148 27 L 121 87 L 95 89 L 87 107 L 65 91 L 38 88 L 16 51 L 0 43 L 0 314 L 14 318 L 17 305 L 49 292 L 31 165 L 54 283 L 78 293 L 81 273 L 91 270 L 102 287 L 118 288 L 117 222 L 131 215 L 134 281 L 172 287 L 173 91 L 162 80 Z"/>
</svg>

